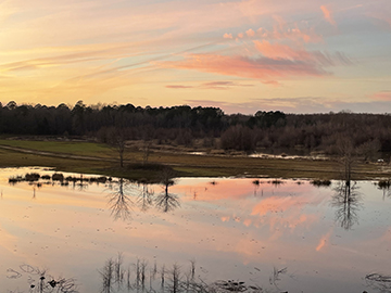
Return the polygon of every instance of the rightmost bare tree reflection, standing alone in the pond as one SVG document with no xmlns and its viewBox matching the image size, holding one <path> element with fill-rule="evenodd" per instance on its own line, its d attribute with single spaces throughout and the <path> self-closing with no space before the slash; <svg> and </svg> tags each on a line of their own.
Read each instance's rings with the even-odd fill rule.
<svg viewBox="0 0 391 293">
<path fill-rule="evenodd" d="M 358 224 L 358 209 L 362 206 L 363 196 L 357 191 L 355 182 L 342 180 L 335 189 L 331 205 L 337 207 L 336 221 L 345 230 L 351 230 L 354 224 Z"/>
</svg>

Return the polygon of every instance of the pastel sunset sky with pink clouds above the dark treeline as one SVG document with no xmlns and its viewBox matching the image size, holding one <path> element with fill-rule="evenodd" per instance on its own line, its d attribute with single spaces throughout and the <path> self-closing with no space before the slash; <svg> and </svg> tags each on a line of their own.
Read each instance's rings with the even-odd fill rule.
<svg viewBox="0 0 391 293">
<path fill-rule="evenodd" d="M 391 112 L 391 0 L 0 0 L 0 102 Z"/>
</svg>

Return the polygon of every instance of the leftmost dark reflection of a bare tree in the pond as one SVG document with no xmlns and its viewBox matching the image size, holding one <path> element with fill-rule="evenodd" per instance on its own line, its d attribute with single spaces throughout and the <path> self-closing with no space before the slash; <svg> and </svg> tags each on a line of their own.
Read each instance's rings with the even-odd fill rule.
<svg viewBox="0 0 391 293">
<path fill-rule="evenodd" d="M 112 184 L 112 192 L 108 195 L 111 215 L 114 219 L 127 220 L 131 218 L 131 205 L 134 204 L 130 194 L 133 187 L 129 181 L 119 178 Z"/>
</svg>

